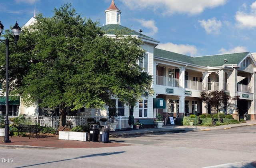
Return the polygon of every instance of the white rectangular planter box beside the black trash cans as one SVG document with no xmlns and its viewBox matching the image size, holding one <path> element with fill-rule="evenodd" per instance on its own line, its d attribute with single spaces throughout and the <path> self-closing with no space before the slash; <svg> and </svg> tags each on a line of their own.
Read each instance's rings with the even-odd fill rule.
<svg viewBox="0 0 256 168">
<path fill-rule="evenodd" d="M 88 141 L 87 132 L 59 131 L 59 140 Z"/>
</svg>

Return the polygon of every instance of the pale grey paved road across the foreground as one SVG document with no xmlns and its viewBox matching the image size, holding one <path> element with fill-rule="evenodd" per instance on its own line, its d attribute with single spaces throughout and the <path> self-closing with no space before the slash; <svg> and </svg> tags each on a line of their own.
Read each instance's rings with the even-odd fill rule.
<svg viewBox="0 0 256 168">
<path fill-rule="evenodd" d="M 5 149 L 0 167 L 244 168 L 256 161 L 256 126 L 110 138 L 110 148 Z"/>
</svg>

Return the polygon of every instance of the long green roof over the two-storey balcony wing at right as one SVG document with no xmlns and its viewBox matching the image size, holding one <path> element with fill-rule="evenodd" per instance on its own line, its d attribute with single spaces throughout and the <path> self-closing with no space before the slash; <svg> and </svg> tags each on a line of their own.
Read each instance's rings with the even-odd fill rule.
<svg viewBox="0 0 256 168">
<path fill-rule="evenodd" d="M 220 55 L 211 55 L 211 56 L 198 56 L 191 57 L 182 54 L 178 54 L 175 52 L 170 52 L 166 50 L 161 50 L 158 48 L 154 48 L 154 56 L 168 58 L 171 60 L 177 60 L 188 64 L 194 64 L 199 66 L 222 66 L 225 64 L 238 64 L 241 60 L 243 60 L 250 52 L 241 52 L 241 53 L 233 53 L 233 54 L 220 54 Z M 224 60 L 227 60 L 225 63 Z"/>
</svg>

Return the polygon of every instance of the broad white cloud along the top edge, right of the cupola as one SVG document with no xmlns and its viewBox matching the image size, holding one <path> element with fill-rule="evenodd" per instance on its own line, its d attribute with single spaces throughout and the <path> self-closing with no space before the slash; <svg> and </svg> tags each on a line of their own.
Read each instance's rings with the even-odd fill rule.
<svg viewBox="0 0 256 168">
<path fill-rule="evenodd" d="M 148 8 L 160 14 L 199 14 L 206 8 L 216 8 L 228 0 L 122 0 L 132 10 Z"/>
</svg>

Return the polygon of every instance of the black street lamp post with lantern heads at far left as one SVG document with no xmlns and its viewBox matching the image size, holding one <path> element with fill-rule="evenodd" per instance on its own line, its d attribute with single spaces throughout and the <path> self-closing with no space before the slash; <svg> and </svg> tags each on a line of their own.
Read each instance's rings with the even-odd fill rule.
<svg viewBox="0 0 256 168">
<path fill-rule="evenodd" d="M 4 30 L 4 25 L 1 24 L 0 21 L 0 36 L 1 33 Z M 20 32 L 21 32 L 21 28 L 18 25 L 18 23 L 16 22 L 16 24 L 13 26 L 12 28 L 12 32 L 14 34 L 14 43 L 17 44 L 18 40 L 19 40 L 19 36 L 20 36 Z M 6 40 L 0 40 L 1 42 L 5 42 L 6 45 L 6 108 L 5 108 L 5 114 L 6 114 L 6 119 L 5 119 L 5 134 L 4 134 L 4 140 L 2 140 L 2 142 L 11 142 L 11 140 L 9 139 L 9 43 L 10 40 L 9 38 L 6 38 Z"/>
</svg>

